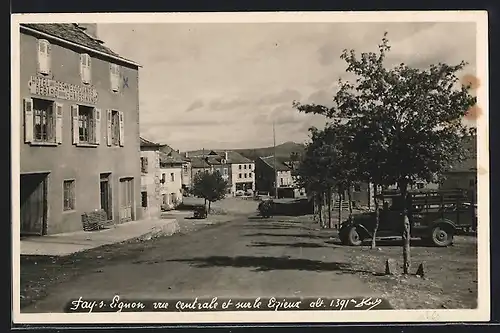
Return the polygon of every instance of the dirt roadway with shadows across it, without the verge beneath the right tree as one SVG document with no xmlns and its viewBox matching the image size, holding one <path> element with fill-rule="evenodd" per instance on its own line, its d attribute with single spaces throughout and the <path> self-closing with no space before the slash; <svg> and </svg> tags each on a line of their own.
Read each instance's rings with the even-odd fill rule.
<svg viewBox="0 0 500 333">
<path fill-rule="evenodd" d="M 49 288 L 23 312 L 59 312 L 69 299 L 373 295 L 315 225 L 240 217 L 150 241 L 144 251 L 100 264 Z M 109 257 L 109 256 L 108 256 Z M 89 258 L 88 260 L 92 260 Z"/>
</svg>

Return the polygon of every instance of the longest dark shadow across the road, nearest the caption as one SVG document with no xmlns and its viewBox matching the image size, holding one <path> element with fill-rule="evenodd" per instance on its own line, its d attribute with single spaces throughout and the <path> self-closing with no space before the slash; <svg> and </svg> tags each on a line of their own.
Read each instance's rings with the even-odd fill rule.
<svg viewBox="0 0 500 333">
<path fill-rule="evenodd" d="M 199 268 L 207 267 L 237 267 L 253 268 L 254 272 L 266 272 L 274 270 L 298 270 L 313 272 L 359 273 L 361 271 L 351 269 L 347 263 L 323 262 L 309 259 L 292 259 L 289 257 L 250 257 L 250 256 L 211 256 L 196 257 L 192 259 L 173 259 L 168 261 L 187 262 L 191 266 Z"/>
</svg>

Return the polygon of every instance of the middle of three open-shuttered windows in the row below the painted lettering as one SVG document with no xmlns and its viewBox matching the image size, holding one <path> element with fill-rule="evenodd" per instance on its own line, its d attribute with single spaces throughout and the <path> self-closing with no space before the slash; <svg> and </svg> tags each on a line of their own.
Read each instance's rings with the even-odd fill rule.
<svg viewBox="0 0 500 333">
<path fill-rule="evenodd" d="M 101 137 L 101 110 L 85 105 L 72 105 L 73 143 L 98 145 Z"/>
</svg>

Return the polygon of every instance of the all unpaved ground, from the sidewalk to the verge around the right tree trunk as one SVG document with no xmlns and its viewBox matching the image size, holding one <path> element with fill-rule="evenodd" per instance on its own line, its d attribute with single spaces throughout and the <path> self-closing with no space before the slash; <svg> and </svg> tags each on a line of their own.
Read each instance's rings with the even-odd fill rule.
<svg viewBox="0 0 500 333">
<path fill-rule="evenodd" d="M 253 214 L 254 215 L 254 214 Z M 181 233 L 104 246 L 65 258 L 21 259 L 23 312 L 61 312 L 70 299 L 195 297 L 386 298 L 397 309 L 477 306 L 477 244 L 457 237 L 448 248 L 412 242 L 412 273 L 400 276 L 398 242 L 347 247 L 335 230 L 307 217 L 217 215 Z M 385 260 L 396 275 L 384 276 Z M 37 289 L 38 288 L 38 289 Z M 28 298 L 31 299 L 28 299 Z"/>
</svg>

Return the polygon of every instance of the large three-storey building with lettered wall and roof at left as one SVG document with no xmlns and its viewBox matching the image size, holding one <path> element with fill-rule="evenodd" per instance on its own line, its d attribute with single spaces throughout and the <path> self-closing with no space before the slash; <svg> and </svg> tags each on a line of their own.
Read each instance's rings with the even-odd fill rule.
<svg viewBox="0 0 500 333">
<path fill-rule="evenodd" d="M 139 65 L 95 32 L 20 27 L 22 234 L 82 230 L 100 209 L 108 223 L 141 218 Z"/>
</svg>

